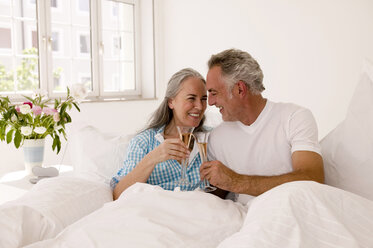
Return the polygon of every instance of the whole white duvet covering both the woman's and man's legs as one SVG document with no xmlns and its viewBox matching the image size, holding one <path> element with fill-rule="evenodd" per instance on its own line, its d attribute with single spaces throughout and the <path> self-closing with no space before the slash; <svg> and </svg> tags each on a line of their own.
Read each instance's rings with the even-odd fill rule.
<svg viewBox="0 0 373 248">
<path fill-rule="evenodd" d="M 314 182 L 283 184 L 247 206 L 138 183 L 27 247 L 373 247 L 372 233 L 372 201 Z"/>
</svg>

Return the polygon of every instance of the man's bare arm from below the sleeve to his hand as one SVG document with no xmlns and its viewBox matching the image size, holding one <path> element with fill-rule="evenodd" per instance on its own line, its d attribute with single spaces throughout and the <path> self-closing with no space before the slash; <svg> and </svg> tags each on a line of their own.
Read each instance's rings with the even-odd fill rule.
<svg viewBox="0 0 373 248">
<path fill-rule="evenodd" d="M 258 196 L 280 184 L 312 180 L 324 182 L 322 157 L 311 151 L 296 151 L 292 154 L 293 171 L 278 176 L 251 176 L 235 173 L 220 161 L 206 162 L 201 166 L 201 178 L 212 185 L 234 193 Z"/>
</svg>

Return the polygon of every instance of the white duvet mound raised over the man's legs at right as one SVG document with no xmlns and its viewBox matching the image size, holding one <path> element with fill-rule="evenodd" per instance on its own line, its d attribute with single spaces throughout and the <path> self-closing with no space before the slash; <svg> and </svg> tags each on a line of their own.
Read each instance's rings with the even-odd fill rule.
<svg viewBox="0 0 373 248">
<path fill-rule="evenodd" d="M 373 202 L 350 192 L 292 182 L 249 204 L 242 229 L 219 248 L 373 247 Z"/>
</svg>

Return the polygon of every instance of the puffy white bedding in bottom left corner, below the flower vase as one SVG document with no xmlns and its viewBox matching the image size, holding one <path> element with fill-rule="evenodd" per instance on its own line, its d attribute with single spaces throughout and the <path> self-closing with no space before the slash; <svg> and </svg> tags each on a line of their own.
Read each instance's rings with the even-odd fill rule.
<svg viewBox="0 0 373 248">
<path fill-rule="evenodd" d="M 103 183 L 67 176 L 43 179 L 21 198 L 0 206 L 0 247 L 53 238 L 112 200 Z"/>
</svg>

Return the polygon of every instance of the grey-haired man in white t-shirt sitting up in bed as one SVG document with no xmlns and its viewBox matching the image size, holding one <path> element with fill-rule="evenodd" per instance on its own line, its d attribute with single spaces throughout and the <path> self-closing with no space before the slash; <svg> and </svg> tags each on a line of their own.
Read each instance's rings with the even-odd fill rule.
<svg viewBox="0 0 373 248">
<path fill-rule="evenodd" d="M 210 134 L 210 162 L 201 166 L 201 178 L 222 190 L 218 193 L 236 193 L 242 203 L 286 182 L 322 183 L 312 113 L 263 98 L 262 70 L 247 52 L 225 50 L 213 55 L 208 66 L 208 104 L 220 109 L 224 122 Z"/>
</svg>

